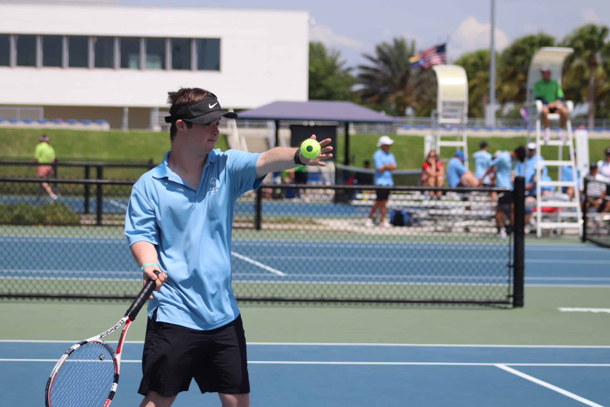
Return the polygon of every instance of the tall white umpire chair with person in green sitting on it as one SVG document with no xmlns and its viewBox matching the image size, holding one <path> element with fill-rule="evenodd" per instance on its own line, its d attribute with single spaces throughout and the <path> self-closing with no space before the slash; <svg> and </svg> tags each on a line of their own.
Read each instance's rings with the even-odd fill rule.
<svg viewBox="0 0 610 407">
<path fill-rule="evenodd" d="M 581 207 L 580 207 L 580 193 L 578 188 L 578 177 L 576 176 L 576 164 L 574 158 L 574 142 L 572 133 L 572 122 L 570 116 L 568 116 L 566 124 L 567 137 L 564 140 L 551 139 L 545 141 L 542 135 L 542 101 L 536 100 L 534 97 L 534 85 L 536 82 L 542 79 L 540 68 L 542 65 L 548 65 L 551 68 L 551 79 L 557 81 L 561 86 L 561 74 L 564 65 L 565 57 L 572 54 L 574 50 L 572 48 L 561 48 L 561 47 L 544 47 L 536 51 L 536 54 L 532 57 L 531 63 L 529 64 L 528 81 L 527 81 L 527 101 L 525 104 L 526 111 L 528 113 L 528 139 L 530 140 L 529 123 L 536 124 L 536 154 L 540 157 L 540 146 L 557 146 L 558 147 L 558 159 L 557 160 L 536 160 L 536 236 L 542 236 L 542 229 L 557 229 L 561 232 L 562 229 L 576 228 L 580 236 L 583 235 L 583 225 L 581 223 Z M 574 110 L 574 104 L 572 101 L 564 101 L 564 106 L 567 107 L 569 114 Z M 550 123 L 556 123 L 559 121 L 558 113 L 549 113 L 548 120 Z M 569 160 L 563 159 L 563 147 L 568 146 L 570 150 Z M 558 167 L 559 179 L 558 181 L 540 181 L 542 176 L 542 168 L 544 165 Z M 572 179 L 573 181 L 562 181 L 560 166 L 568 165 L 572 167 Z M 527 180 L 526 180 L 527 181 Z M 557 197 L 551 199 L 545 199 L 542 197 L 541 187 L 573 187 L 574 199 L 568 201 L 565 199 L 559 199 Z M 553 220 L 542 219 L 542 207 L 556 207 L 558 211 L 555 212 L 557 217 Z M 565 209 L 575 209 L 575 211 L 565 211 Z"/>
</svg>

